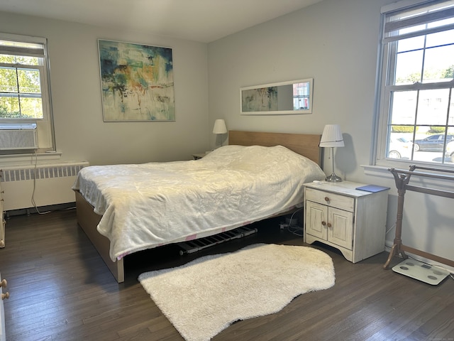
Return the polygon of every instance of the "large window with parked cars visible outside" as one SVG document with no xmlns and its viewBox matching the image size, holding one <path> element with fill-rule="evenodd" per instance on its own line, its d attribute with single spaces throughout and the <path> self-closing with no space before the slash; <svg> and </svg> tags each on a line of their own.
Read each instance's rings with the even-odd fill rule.
<svg viewBox="0 0 454 341">
<path fill-rule="evenodd" d="M 454 166 L 454 0 L 382 8 L 377 164 Z"/>
</svg>

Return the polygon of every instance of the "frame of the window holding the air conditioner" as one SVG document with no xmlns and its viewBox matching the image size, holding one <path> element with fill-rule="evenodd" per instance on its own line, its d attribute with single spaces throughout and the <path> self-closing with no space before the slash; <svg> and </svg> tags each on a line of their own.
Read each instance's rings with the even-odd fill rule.
<svg viewBox="0 0 454 341">
<path fill-rule="evenodd" d="M 43 118 L 23 118 L 23 119 L 0 119 L 0 125 L 3 129 L 8 126 L 17 126 L 18 124 L 36 124 L 36 132 L 38 135 L 38 150 L 36 153 L 45 153 L 49 151 L 56 151 L 55 146 L 55 130 L 53 124 L 52 112 L 52 96 L 50 91 L 50 58 L 48 55 L 48 40 L 42 37 L 23 36 L 10 33 L 0 33 L 0 40 L 11 40 L 20 43 L 35 43 L 43 46 L 43 65 L 35 65 L 35 70 L 40 70 L 40 94 L 41 102 L 43 105 Z M 21 55 L 16 53 L 16 55 Z M 26 55 L 24 53 L 23 55 Z M 30 68 L 30 67 L 27 67 Z M 30 151 L 17 149 L 13 151 L 0 151 L 0 155 L 9 154 L 23 154 L 30 153 Z"/>
</svg>

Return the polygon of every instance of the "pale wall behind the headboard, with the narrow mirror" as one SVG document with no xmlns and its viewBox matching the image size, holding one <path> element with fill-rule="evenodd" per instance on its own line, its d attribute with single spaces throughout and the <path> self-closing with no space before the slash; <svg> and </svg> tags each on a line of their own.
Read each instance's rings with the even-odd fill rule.
<svg viewBox="0 0 454 341">
<path fill-rule="evenodd" d="M 387 245 L 397 212 L 392 174 L 366 175 L 360 165 L 370 164 L 380 7 L 391 2 L 324 0 L 209 44 L 210 125 L 222 118 L 228 129 L 321 134 L 325 124 L 340 124 L 345 148 L 336 150 L 336 174 L 392 188 Z M 308 77 L 314 78 L 313 114 L 240 115 L 240 87 Z M 324 169 L 331 174 L 325 154 Z M 406 197 L 404 244 L 454 259 L 453 200 Z"/>
</svg>

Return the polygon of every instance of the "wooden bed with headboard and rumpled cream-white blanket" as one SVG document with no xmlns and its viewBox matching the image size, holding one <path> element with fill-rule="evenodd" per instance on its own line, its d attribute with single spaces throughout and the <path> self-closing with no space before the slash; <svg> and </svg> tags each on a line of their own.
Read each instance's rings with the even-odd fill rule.
<svg viewBox="0 0 454 341">
<path fill-rule="evenodd" d="M 77 222 L 118 283 L 128 254 L 285 214 L 303 202 L 302 183 L 325 177 L 320 135 L 229 131 L 228 139 L 196 161 L 79 172 Z"/>
</svg>

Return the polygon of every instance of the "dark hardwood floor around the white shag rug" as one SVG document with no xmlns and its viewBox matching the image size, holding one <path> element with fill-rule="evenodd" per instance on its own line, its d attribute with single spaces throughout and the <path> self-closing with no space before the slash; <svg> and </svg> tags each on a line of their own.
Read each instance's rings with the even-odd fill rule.
<svg viewBox="0 0 454 341">
<path fill-rule="evenodd" d="M 198 254 L 179 256 L 170 246 L 131 255 L 126 281 L 118 284 L 74 210 L 13 216 L 0 249 L 1 276 L 11 294 L 4 301 L 6 340 L 182 340 L 138 275 L 255 242 L 302 244 L 277 220 L 256 225 L 255 236 Z M 234 323 L 214 340 L 454 340 L 451 278 L 431 286 L 382 269 L 385 252 L 351 264 L 336 250 L 314 247 L 333 258 L 333 288 L 301 295 L 279 313 Z"/>
</svg>

